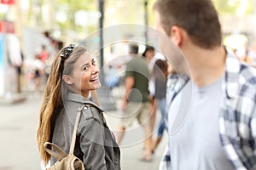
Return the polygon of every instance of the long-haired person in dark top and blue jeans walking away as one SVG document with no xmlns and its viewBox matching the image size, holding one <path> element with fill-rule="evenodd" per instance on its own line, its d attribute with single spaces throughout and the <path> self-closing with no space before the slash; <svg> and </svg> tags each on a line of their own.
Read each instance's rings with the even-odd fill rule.
<svg viewBox="0 0 256 170">
<path fill-rule="evenodd" d="M 157 127 L 157 137 L 153 142 L 152 152 L 157 148 L 166 129 L 166 80 L 168 75 L 168 64 L 166 60 L 157 59 L 153 67 L 154 99 L 157 107 L 160 108 L 161 118 Z"/>
</svg>

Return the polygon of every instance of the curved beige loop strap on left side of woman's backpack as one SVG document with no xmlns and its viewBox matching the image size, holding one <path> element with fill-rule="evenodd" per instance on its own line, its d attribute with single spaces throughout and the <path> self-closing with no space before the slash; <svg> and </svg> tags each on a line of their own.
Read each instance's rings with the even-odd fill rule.
<svg viewBox="0 0 256 170">
<path fill-rule="evenodd" d="M 49 146 L 51 148 L 54 148 L 56 150 L 56 152 L 53 150 L 50 150 Z M 61 148 L 59 146 L 57 146 L 56 144 L 53 144 L 53 143 L 44 142 L 44 150 L 46 150 L 50 156 L 53 156 L 58 161 L 61 161 L 64 157 L 67 156 L 65 151 L 61 150 Z"/>
</svg>

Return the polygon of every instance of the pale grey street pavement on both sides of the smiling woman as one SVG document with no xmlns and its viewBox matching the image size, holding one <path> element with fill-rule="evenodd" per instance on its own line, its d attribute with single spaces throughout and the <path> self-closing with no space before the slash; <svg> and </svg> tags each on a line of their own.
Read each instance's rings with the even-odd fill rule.
<svg viewBox="0 0 256 170">
<path fill-rule="evenodd" d="M 38 128 L 38 113 L 42 94 L 27 93 L 26 100 L 17 104 L 0 103 L 0 170 L 37 170 L 40 169 L 40 159 L 36 143 Z M 116 132 L 119 125 L 119 113 L 105 113 L 108 126 Z M 157 113 L 157 120 L 160 113 Z M 155 137 L 155 134 L 154 134 Z M 137 122 L 127 130 L 121 150 L 121 167 L 123 170 L 155 170 L 159 167 L 160 158 L 166 147 L 166 133 L 153 161 L 139 161 L 143 154 L 143 129 Z"/>
</svg>

